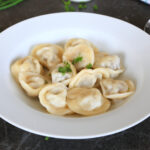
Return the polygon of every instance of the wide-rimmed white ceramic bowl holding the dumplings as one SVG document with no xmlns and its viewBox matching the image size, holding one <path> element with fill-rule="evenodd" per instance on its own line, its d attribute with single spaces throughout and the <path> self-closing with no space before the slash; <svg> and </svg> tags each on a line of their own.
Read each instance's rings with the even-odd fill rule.
<svg viewBox="0 0 150 150">
<path fill-rule="evenodd" d="M 121 56 L 125 77 L 136 83 L 126 103 L 92 117 L 65 118 L 45 112 L 11 77 L 10 64 L 39 43 L 63 43 L 82 37 L 100 50 Z M 0 34 L 0 117 L 26 131 L 44 136 L 83 139 L 125 130 L 150 114 L 150 36 L 124 21 L 90 13 L 56 13 L 28 19 Z"/>
</svg>

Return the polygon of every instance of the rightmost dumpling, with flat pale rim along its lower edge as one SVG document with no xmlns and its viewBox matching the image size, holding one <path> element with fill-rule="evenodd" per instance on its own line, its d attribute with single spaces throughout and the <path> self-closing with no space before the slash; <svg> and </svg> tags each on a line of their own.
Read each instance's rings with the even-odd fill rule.
<svg viewBox="0 0 150 150">
<path fill-rule="evenodd" d="M 132 95 L 135 91 L 131 80 L 103 79 L 100 81 L 104 97 L 109 99 L 123 99 Z"/>
</svg>

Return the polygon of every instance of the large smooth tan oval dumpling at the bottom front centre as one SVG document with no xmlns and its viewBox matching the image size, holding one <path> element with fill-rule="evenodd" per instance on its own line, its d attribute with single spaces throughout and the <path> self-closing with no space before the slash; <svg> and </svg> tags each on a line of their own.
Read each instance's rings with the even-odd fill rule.
<svg viewBox="0 0 150 150">
<path fill-rule="evenodd" d="M 78 114 L 89 116 L 106 112 L 110 101 L 105 99 L 96 88 L 72 88 L 68 90 L 67 104 Z"/>
</svg>

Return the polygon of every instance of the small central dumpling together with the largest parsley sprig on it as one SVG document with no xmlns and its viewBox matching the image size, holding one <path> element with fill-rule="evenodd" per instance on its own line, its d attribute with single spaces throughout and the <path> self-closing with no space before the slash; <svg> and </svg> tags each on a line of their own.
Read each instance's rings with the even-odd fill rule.
<svg viewBox="0 0 150 150">
<path fill-rule="evenodd" d="M 75 74 L 76 68 L 70 62 L 58 64 L 51 72 L 52 83 L 62 82 L 65 85 L 68 85 Z"/>
</svg>

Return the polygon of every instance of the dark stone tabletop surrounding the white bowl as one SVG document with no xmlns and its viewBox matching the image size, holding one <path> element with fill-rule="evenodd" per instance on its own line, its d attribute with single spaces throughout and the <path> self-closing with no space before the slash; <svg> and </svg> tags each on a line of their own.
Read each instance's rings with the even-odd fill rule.
<svg viewBox="0 0 150 150">
<path fill-rule="evenodd" d="M 93 0 L 85 12 L 113 16 L 143 29 L 150 18 L 150 6 L 138 0 Z M 77 9 L 77 4 L 73 4 Z M 38 15 L 63 12 L 61 0 L 24 0 L 19 5 L 0 11 L 0 30 Z M 78 10 L 77 10 L 78 11 Z M 89 140 L 63 140 L 34 135 L 0 119 L 0 150 L 150 150 L 150 119 L 124 132 Z"/>
</svg>

